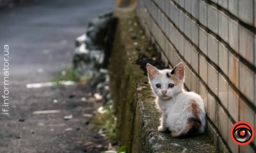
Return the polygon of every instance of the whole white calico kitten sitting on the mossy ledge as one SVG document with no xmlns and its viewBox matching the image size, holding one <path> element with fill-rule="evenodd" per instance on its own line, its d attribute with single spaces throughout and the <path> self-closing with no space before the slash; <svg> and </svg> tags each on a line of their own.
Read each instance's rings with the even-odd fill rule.
<svg viewBox="0 0 256 153">
<path fill-rule="evenodd" d="M 147 64 L 148 79 L 163 112 L 158 131 L 171 130 L 172 137 L 192 137 L 205 131 L 205 111 L 201 96 L 183 90 L 184 65 L 158 70 Z"/>
</svg>

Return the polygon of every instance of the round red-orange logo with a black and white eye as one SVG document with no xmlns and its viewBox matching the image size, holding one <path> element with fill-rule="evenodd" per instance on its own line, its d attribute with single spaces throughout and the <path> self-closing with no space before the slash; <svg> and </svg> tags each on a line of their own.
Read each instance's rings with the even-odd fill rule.
<svg viewBox="0 0 256 153">
<path fill-rule="evenodd" d="M 254 138 L 254 129 L 248 122 L 240 121 L 230 130 L 230 136 L 237 145 L 247 145 Z"/>
</svg>

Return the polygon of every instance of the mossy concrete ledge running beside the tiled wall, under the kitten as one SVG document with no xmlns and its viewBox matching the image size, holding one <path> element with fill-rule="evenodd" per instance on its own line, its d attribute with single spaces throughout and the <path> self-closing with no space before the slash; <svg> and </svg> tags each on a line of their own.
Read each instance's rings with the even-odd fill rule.
<svg viewBox="0 0 256 153">
<path fill-rule="evenodd" d="M 118 140 L 127 152 L 218 152 L 212 139 L 202 134 L 188 139 L 172 138 L 170 133 L 158 132 L 160 111 L 150 94 L 147 76 L 135 64 L 139 53 L 147 52 L 150 41 L 143 39 L 133 10 L 117 10 L 119 18 L 112 55 L 109 63 L 110 92 L 117 114 Z M 134 24 L 137 23 L 137 24 Z M 136 36 L 137 39 L 131 39 Z M 137 42 L 137 43 L 135 43 Z M 137 45 L 135 45 L 137 44 Z M 138 48 L 140 51 L 137 51 Z"/>
</svg>

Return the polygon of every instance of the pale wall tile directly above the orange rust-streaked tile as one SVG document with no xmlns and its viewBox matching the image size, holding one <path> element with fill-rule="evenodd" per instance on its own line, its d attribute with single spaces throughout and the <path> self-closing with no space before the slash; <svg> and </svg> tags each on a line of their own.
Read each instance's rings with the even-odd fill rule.
<svg viewBox="0 0 256 153">
<path fill-rule="evenodd" d="M 238 23 L 229 18 L 229 45 L 238 53 Z"/>
</svg>

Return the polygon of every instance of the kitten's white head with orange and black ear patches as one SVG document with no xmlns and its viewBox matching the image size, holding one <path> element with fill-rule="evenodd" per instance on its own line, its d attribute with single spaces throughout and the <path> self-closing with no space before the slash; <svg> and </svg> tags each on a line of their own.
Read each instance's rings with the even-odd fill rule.
<svg viewBox="0 0 256 153">
<path fill-rule="evenodd" d="M 152 91 L 154 91 L 160 99 L 171 99 L 173 96 L 183 91 L 185 78 L 183 63 L 177 64 L 172 70 L 158 70 L 148 63 L 147 72 Z"/>
</svg>

